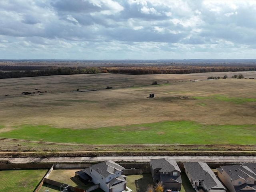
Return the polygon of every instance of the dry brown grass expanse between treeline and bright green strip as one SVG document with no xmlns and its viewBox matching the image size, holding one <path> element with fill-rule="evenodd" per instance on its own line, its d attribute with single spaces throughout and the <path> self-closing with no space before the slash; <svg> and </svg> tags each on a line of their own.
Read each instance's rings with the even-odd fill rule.
<svg viewBox="0 0 256 192">
<path fill-rule="evenodd" d="M 209 76 L 228 79 L 190 82 Z M 244 74 L 247 79 L 231 79 Z M 99 128 L 160 121 L 191 120 L 202 124 L 255 124 L 256 103 L 234 104 L 195 96 L 216 94 L 255 98 L 256 72 L 202 74 L 86 74 L 0 80 L 0 126 L 50 124 L 59 128 Z M 167 85 L 151 85 L 153 81 Z M 106 86 L 113 89 L 106 90 Z M 134 87 L 131 87 L 134 86 Z M 97 89 L 92 92 L 76 90 Z M 47 91 L 25 96 L 22 92 Z M 147 98 L 150 93 L 155 98 Z M 4 96 L 9 94 L 9 96 Z M 182 98 L 187 96 L 188 99 Z"/>
</svg>

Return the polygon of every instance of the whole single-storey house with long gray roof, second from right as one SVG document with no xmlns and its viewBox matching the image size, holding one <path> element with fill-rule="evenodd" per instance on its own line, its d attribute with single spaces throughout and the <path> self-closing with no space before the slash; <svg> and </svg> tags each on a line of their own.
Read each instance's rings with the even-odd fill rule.
<svg viewBox="0 0 256 192">
<path fill-rule="evenodd" d="M 192 187 L 206 192 L 226 192 L 217 176 L 204 162 L 185 162 L 184 169 Z"/>
</svg>

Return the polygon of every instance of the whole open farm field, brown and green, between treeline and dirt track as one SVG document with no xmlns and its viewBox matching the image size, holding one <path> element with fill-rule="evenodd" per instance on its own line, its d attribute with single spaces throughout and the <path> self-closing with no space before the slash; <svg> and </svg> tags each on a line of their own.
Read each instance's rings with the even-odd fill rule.
<svg viewBox="0 0 256 192">
<path fill-rule="evenodd" d="M 246 79 L 232 79 L 234 74 Z M 190 81 L 224 75 L 228 78 Z M 85 144 L 256 144 L 256 80 L 249 79 L 255 77 L 253 71 L 1 79 L 0 137 Z M 70 92 L 78 88 L 96 91 Z M 152 93 L 155 97 L 148 98 Z"/>
</svg>

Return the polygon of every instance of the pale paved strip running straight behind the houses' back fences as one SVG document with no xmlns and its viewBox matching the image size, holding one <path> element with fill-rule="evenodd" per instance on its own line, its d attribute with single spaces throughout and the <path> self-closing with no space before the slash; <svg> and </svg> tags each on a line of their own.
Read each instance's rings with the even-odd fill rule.
<svg viewBox="0 0 256 192">
<path fill-rule="evenodd" d="M 49 157 L 49 158 L 0 158 L 0 161 L 10 163 L 77 163 L 94 161 L 126 161 L 126 162 L 149 162 L 150 159 L 169 158 L 178 162 L 211 162 L 211 163 L 235 163 L 235 162 L 256 162 L 255 156 L 109 156 L 109 157 Z"/>
</svg>

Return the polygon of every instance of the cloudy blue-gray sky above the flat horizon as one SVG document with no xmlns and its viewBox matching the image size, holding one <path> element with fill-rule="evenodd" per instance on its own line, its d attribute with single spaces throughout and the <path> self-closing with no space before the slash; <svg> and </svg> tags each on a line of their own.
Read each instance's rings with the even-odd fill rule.
<svg viewBox="0 0 256 192">
<path fill-rule="evenodd" d="M 253 59 L 256 1 L 0 0 L 0 59 Z"/>
</svg>

